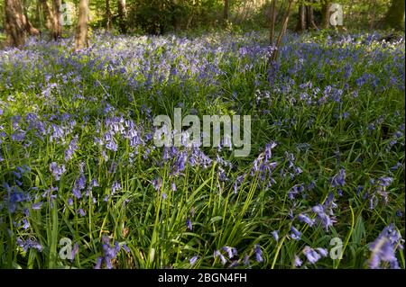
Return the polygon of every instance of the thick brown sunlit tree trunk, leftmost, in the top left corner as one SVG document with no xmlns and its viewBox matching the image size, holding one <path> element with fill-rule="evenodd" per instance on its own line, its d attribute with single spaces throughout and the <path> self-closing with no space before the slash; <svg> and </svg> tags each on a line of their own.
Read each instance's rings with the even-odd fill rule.
<svg viewBox="0 0 406 287">
<path fill-rule="evenodd" d="M 23 6 L 20 0 L 5 0 L 6 45 L 22 47 L 25 43 Z"/>
</svg>

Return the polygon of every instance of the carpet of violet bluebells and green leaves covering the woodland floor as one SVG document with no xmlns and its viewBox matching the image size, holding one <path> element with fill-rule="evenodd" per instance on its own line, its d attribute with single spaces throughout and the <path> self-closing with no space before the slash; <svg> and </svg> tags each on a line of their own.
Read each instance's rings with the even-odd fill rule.
<svg viewBox="0 0 406 287">
<path fill-rule="evenodd" d="M 0 51 L 0 266 L 405 268 L 404 35 L 381 37 L 288 34 L 277 63 L 267 31 Z M 156 148 L 174 107 L 251 115 L 250 157 Z"/>
</svg>

